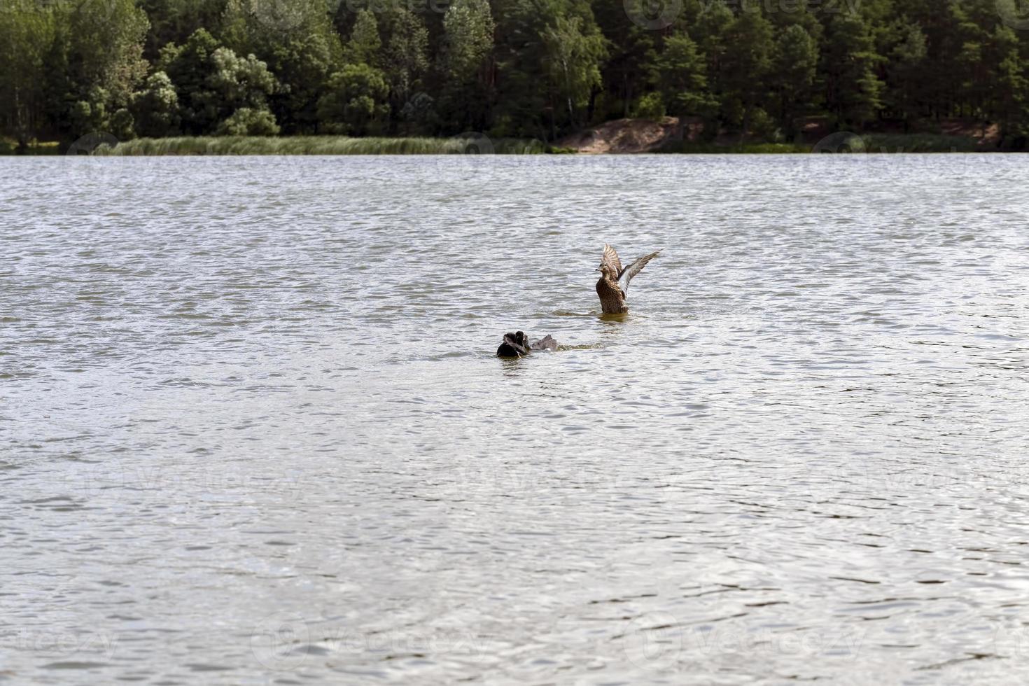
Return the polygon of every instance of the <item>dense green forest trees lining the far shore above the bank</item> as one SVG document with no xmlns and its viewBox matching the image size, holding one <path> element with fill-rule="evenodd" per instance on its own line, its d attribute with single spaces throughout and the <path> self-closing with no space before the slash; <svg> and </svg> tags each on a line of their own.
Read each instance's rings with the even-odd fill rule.
<svg viewBox="0 0 1029 686">
<path fill-rule="evenodd" d="M 554 140 L 624 116 L 791 141 L 1029 129 L 1018 0 L 0 0 L 0 130 Z"/>
</svg>

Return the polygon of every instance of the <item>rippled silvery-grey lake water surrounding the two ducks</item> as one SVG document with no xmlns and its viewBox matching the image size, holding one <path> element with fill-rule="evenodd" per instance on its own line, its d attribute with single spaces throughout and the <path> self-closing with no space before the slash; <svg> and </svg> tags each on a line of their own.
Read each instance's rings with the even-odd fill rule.
<svg viewBox="0 0 1029 686">
<path fill-rule="evenodd" d="M 1025 156 L 0 177 L 0 682 L 1029 680 Z"/>
</svg>

